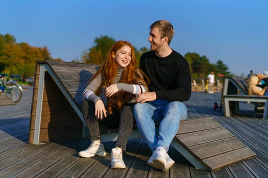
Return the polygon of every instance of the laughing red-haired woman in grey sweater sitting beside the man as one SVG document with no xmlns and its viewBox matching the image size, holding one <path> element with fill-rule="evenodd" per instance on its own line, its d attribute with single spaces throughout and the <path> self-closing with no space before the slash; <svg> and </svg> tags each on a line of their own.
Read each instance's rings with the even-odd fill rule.
<svg viewBox="0 0 268 178">
<path fill-rule="evenodd" d="M 126 150 L 133 129 L 133 106 L 136 95 L 147 92 L 145 74 L 136 67 L 134 47 L 127 41 L 117 41 L 106 60 L 84 90 L 82 110 L 92 143 L 79 156 L 105 156 L 99 123 L 118 128 L 118 138 L 111 151 L 111 167 L 126 168 L 122 151 Z M 146 77 L 146 76 L 145 76 Z"/>
</svg>

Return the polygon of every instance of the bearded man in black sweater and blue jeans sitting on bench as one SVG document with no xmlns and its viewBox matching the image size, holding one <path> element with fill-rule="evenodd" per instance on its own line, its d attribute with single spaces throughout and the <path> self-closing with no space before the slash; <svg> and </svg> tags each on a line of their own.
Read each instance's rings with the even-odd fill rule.
<svg viewBox="0 0 268 178">
<path fill-rule="evenodd" d="M 167 154 L 180 119 L 187 116 L 186 106 L 191 95 L 189 65 L 184 57 L 169 47 L 174 36 L 173 25 L 158 20 L 150 26 L 151 51 L 140 57 L 140 68 L 150 78 L 150 92 L 139 94 L 134 117 L 141 135 L 153 151 L 148 160 L 152 167 L 167 171 L 175 163 Z M 160 123 L 159 131 L 155 123 Z"/>
</svg>

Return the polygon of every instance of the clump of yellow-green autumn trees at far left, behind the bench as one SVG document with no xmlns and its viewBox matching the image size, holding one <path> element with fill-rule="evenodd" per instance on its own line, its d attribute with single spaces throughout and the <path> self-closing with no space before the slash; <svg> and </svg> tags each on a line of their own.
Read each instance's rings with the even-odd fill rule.
<svg viewBox="0 0 268 178">
<path fill-rule="evenodd" d="M 28 43 L 16 43 L 14 36 L 0 34 L 0 72 L 25 77 L 34 76 L 36 61 L 53 60 L 47 47 L 33 47 Z"/>
</svg>

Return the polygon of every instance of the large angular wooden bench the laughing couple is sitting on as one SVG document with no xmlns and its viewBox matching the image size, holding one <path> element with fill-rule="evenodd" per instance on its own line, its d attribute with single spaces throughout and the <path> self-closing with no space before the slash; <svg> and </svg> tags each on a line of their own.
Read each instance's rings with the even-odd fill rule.
<svg viewBox="0 0 268 178">
<path fill-rule="evenodd" d="M 87 137 L 81 112 L 82 93 L 98 65 L 38 61 L 29 128 L 29 143 Z M 115 141 L 117 130 L 101 130 L 102 141 Z M 134 129 L 130 138 L 141 138 Z M 213 117 L 181 120 L 172 141 L 194 167 L 221 169 L 256 154 Z"/>
</svg>

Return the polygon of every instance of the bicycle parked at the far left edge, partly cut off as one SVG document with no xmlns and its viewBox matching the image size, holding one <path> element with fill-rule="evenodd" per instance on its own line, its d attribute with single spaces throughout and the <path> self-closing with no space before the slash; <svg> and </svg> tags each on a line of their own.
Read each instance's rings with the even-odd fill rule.
<svg viewBox="0 0 268 178">
<path fill-rule="evenodd" d="M 22 97 L 22 87 L 13 80 L 5 81 L 7 76 L 8 73 L 0 73 L 0 90 L 8 95 L 14 103 L 17 103 Z"/>
</svg>

